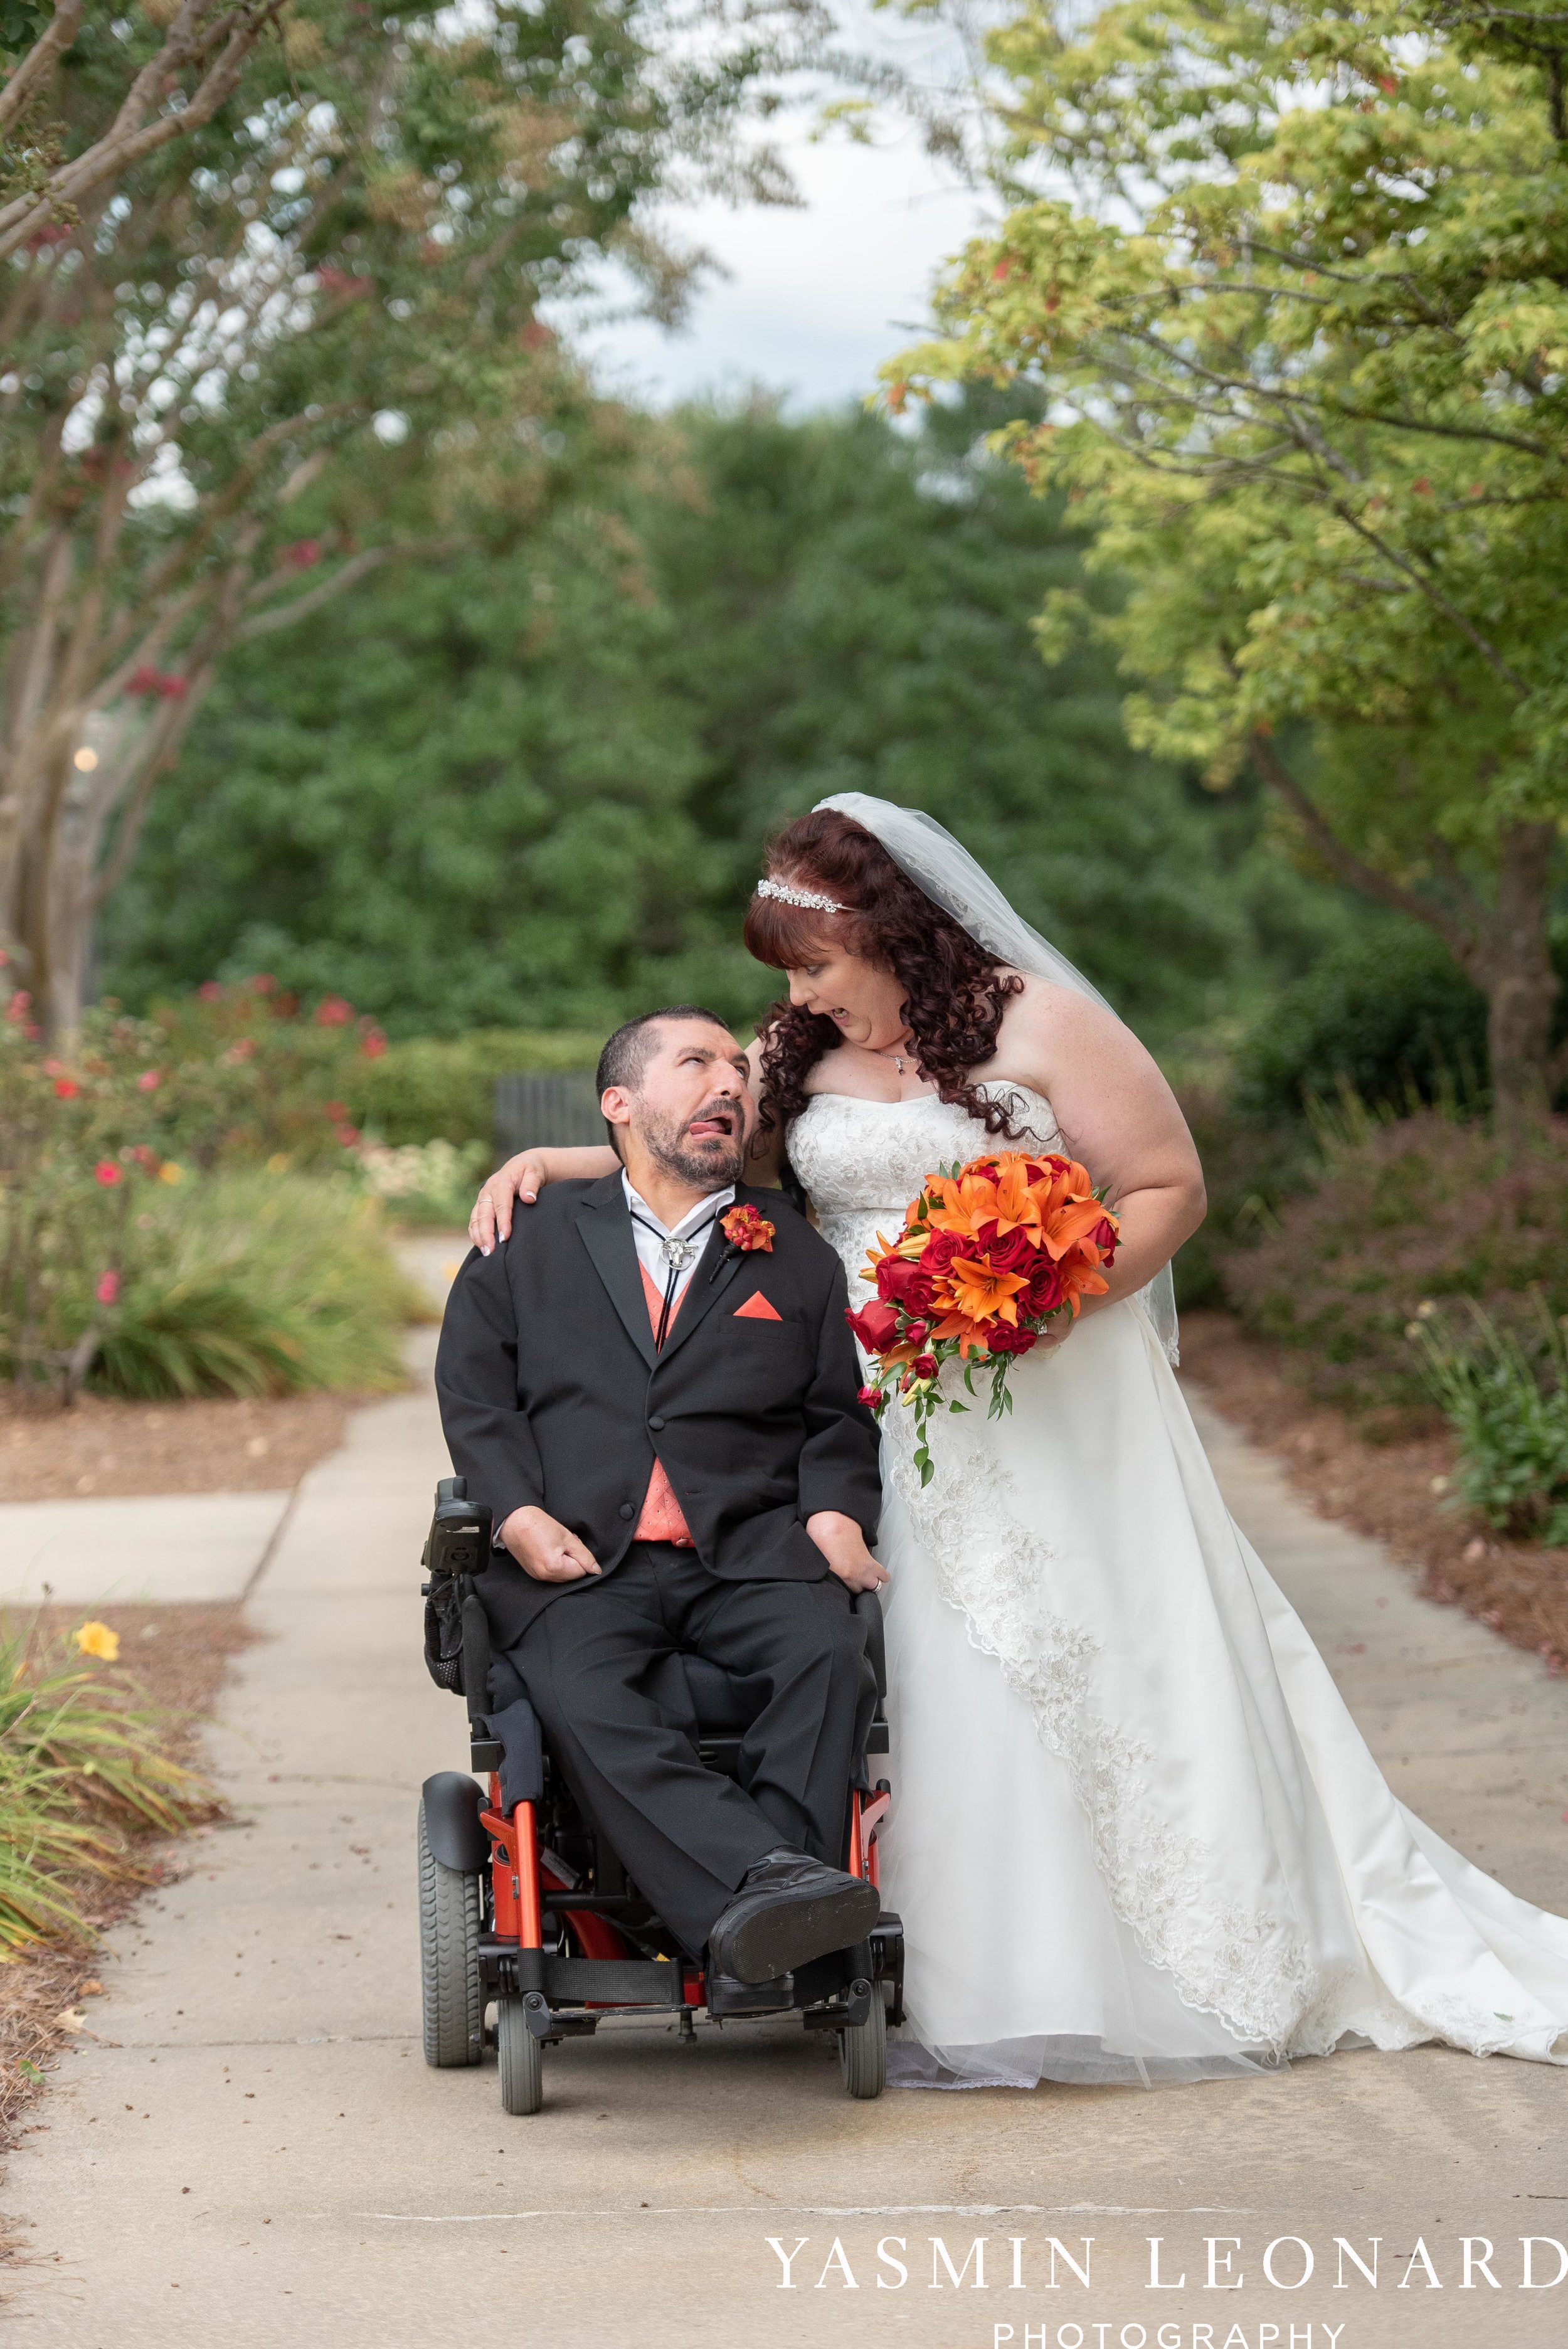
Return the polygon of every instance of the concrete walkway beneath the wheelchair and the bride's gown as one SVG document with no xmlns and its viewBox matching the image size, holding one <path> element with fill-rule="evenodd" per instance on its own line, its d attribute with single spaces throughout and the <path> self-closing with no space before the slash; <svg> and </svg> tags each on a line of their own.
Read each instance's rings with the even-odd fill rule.
<svg viewBox="0 0 1568 2349">
<path fill-rule="evenodd" d="M 1568 1907 L 1568 1689 L 1207 1433 L 1399 1792 Z M 1160 2093 L 852 2105 L 831 2044 L 796 2025 L 699 2030 L 690 2048 L 615 2025 L 549 2051 L 530 2121 L 502 2116 L 493 2065 L 427 2072 L 413 1806 L 427 1771 L 462 1762 L 460 1708 L 418 1654 L 444 1468 L 420 1388 L 359 1412 L 300 1487 L 251 1600 L 263 1644 L 214 1736 L 242 1825 L 113 1938 L 99 2039 L 12 2166 L 19 2344 L 1026 2349 L 1026 2323 L 1028 2349 L 1141 2349 L 1138 2328 L 1150 2349 L 1561 2340 L 1568 2283 L 1519 2290 L 1519 2236 L 1568 2241 L 1568 2077 L 1545 2067 L 1420 2048 Z M 1380 2239 L 1376 2290 L 1354 2267 L 1336 2288 L 1336 2234 L 1364 2260 Z M 984 2290 L 962 2264 L 976 2236 Z M 1049 2236 L 1089 2288 L 1061 2255 L 1047 2288 Z M 1183 2288 L 1150 2290 L 1150 2236 Z M 1207 2236 L 1237 2239 L 1218 2241 L 1214 2290 Z M 1277 2236 L 1312 2246 L 1300 2290 L 1298 2246 L 1272 2255 L 1279 2286 L 1263 2276 Z M 1498 2290 L 1460 2290 L 1460 2236 L 1495 2243 Z M 770 2239 L 805 2239 L 791 2290 Z M 1418 2239 L 1441 2290 L 1411 2269 Z M 1554 2269 L 1537 2250 L 1537 2281 Z"/>
</svg>

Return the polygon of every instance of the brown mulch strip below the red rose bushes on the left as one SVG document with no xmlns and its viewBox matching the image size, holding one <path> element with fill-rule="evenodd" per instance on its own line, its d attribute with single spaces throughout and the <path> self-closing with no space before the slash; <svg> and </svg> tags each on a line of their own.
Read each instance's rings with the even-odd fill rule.
<svg viewBox="0 0 1568 2349">
<path fill-rule="evenodd" d="M 286 1492 L 343 1442 L 352 1395 L 23 1402 L 0 1388 L 0 1499 Z"/>
</svg>

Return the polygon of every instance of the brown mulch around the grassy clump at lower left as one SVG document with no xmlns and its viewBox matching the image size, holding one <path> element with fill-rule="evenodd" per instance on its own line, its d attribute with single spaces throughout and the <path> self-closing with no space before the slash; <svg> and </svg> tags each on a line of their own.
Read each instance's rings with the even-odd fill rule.
<svg viewBox="0 0 1568 2349">
<path fill-rule="evenodd" d="M 192 1405 L 185 1405 L 192 1409 Z M 200 1405 L 195 1405 L 200 1409 Z M 176 1487 L 202 1489 L 202 1487 Z M 40 1630 L 73 1630 L 82 1609 L 40 1609 Z M 120 1661 L 99 1665 L 103 1680 L 134 1698 L 169 1708 L 181 1719 L 171 1745 L 190 1759 L 200 1722 L 211 1712 L 228 1658 L 256 1637 L 242 1621 L 237 1602 L 221 1607 L 103 1607 L 96 1621 L 120 1633 Z M 146 1837 L 134 1851 L 146 1882 L 87 1879 L 80 1893 L 82 1912 L 96 1931 L 117 1924 L 146 1891 L 146 1884 L 174 1884 L 192 1865 L 190 1846 L 218 1832 L 195 1828 L 178 1839 Z M 40 1945 L 0 1966 L 0 2149 L 16 2145 L 26 2126 L 26 2107 L 47 2086 L 61 2051 L 92 2034 L 92 2001 L 103 1992 L 103 1952 L 87 1947 Z M 5 2241 L 0 2241 L 0 2255 Z"/>
</svg>

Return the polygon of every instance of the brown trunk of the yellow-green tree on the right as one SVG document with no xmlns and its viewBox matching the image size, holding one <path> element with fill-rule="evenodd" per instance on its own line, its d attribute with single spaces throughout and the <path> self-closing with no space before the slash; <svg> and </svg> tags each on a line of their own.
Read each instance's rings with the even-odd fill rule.
<svg viewBox="0 0 1568 2349">
<path fill-rule="evenodd" d="M 1498 1137 L 1519 1149 L 1552 1106 L 1559 977 L 1547 930 L 1556 824 L 1516 824 L 1500 841 L 1498 909 L 1469 977 L 1486 989 L 1486 1050 Z"/>
</svg>

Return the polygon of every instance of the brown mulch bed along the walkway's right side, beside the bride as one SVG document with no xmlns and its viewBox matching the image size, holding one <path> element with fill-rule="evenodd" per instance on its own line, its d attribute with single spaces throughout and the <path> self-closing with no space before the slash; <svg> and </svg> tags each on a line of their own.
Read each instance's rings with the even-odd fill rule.
<svg viewBox="0 0 1568 2349">
<path fill-rule="evenodd" d="M 1312 1395 L 1312 1362 L 1249 1337 L 1228 1313 L 1183 1313 L 1181 1374 L 1272 1452 L 1319 1517 L 1387 1543 L 1420 1595 L 1568 1668 L 1568 1550 L 1502 1534 L 1451 1499 L 1453 1438 L 1437 1414 L 1354 1421 Z"/>
</svg>

